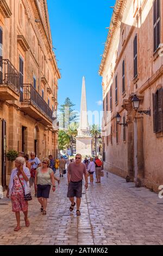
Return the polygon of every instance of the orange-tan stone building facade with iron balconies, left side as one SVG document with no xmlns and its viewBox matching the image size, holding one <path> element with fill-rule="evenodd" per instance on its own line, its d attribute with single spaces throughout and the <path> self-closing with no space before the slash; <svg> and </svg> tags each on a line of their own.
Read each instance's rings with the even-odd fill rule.
<svg viewBox="0 0 163 256">
<path fill-rule="evenodd" d="M 9 180 L 6 152 L 58 154 L 53 128 L 60 72 L 46 0 L 0 1 L 0 184 Z"/>
</svg>

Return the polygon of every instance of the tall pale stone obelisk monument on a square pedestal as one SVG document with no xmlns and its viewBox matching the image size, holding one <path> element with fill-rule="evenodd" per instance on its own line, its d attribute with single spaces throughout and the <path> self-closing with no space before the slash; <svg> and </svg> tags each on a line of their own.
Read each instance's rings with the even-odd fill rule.
<svg viewBox="0 0 163 256">
<path fill-rule="evenodd" d="M 82 156 L 92 155 L 92 137 L 90 136 L 90 128 L 87 117 L 85 78 L 83 76 L 82 97 L 80 103 L 80 124 L 78 136 L 76 137 L 76 152 Z"/>
</svg>

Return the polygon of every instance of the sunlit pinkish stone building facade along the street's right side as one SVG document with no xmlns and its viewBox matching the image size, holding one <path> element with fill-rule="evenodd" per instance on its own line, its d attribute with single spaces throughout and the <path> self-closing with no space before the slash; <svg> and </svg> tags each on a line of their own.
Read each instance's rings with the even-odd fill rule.
<svg viewBox="0 0 163 256">
<path fill-rule="evenodd" d="M 163 184 L 162 16 L 161 0 L 117 0 L 99 69 L 105 169 L 155 191 Z"/>
</svg>

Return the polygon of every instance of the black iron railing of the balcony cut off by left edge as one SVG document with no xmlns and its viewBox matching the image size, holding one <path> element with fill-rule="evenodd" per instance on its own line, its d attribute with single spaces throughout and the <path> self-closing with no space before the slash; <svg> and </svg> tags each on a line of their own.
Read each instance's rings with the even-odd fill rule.
<svg viewBox="0 0 163 256">
<path fill-rule="evenodd" d="M 9 59 L 1 59 L 0 61 L 0 66 L 2 67 L 2 71 L 0 72 L 0 86 L 7 85 L 15 92 L 20 93 L 20 73 Z"/>
</svg>

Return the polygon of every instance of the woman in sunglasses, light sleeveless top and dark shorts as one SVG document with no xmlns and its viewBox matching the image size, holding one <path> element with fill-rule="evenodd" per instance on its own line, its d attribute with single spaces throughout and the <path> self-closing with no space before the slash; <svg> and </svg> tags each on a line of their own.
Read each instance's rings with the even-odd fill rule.
<svg viewBox="0 0 163 256">
<path fill-rule="evenodd" d="M 46 215 L 47 199 L 53 184 L 52 190 L 55 191 L 54 172 L 49 168 L 49 158 L 44 158 L 42 166 L 37 168 L 35 175 L 35 188 L 37 190 L 37 199 L 41 204 L 42 215 Z"/>
</svg>

